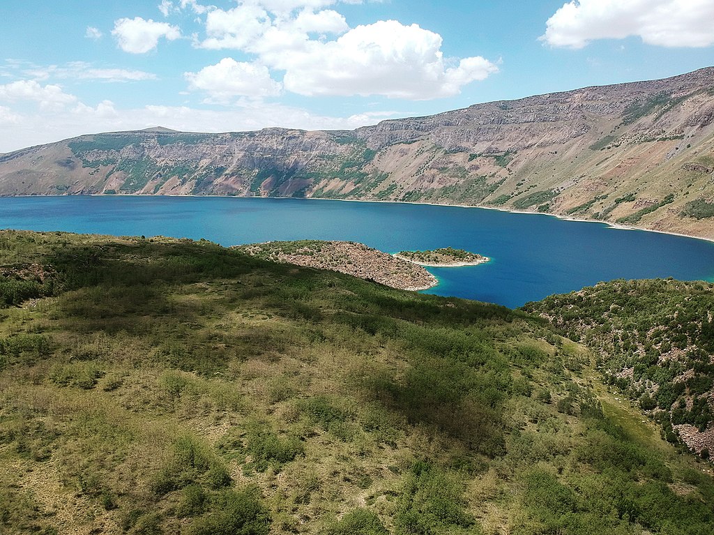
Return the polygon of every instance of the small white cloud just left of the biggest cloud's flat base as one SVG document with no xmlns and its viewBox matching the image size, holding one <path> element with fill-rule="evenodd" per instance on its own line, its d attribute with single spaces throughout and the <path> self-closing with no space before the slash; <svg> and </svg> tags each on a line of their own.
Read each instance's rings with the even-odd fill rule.
<svg viewBox="0 0 714 535">
<path fill-rule="evenodd" d="M 281 85 L 271 78 L 266 66 L 233 58 L 223 58 L 216 65 L 183 76 L 190 82 L 191 89 L 205 91 L 213 101 L 221 103 L 228 103 L 236 96 L 261 98 L 281 92 Z"/>
</svg>

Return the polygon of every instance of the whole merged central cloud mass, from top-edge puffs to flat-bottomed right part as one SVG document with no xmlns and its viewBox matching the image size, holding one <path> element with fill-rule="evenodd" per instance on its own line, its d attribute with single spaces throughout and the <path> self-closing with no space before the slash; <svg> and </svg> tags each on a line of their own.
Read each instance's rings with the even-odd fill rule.
<svg viewBox="0 0 714 535">
<path fill-rule="evenodd" d="M 286 90 L 305 96 L 435 99 L 498 71 L 481 56 L 446 60 L 441 36 L 416 24 L 378 21 L 350 29 L 337 11 L 316 11 L 334 3 L 254 0 L 213 9 L 206 39 L 195 44 L 255 54 L 269 69 L 284 71 Z"/>
</svg>

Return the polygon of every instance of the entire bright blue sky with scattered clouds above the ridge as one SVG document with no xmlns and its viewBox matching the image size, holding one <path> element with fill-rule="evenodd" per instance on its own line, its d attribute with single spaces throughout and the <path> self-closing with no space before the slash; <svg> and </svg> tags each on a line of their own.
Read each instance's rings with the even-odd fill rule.
<svg viewBox="0 0 714 535">
<path fill-rule="evenodd" d="M 714 0 L 0 0 L 0 153 L 355 129 L 714 65 Z"/>
</svg>

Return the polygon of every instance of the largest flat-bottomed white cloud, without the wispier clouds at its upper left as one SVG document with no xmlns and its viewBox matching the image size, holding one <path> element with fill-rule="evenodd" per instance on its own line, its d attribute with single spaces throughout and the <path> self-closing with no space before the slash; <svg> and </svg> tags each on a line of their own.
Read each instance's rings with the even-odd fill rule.
<svg viewBox="0 0 714 535">
<path fill-rule="evenodd" d="M 498 67 L 481 56 L 447 66 L 441 36 L 416 24 L 378 21 L 357 26 L 336 41 L 311 41 L 306 51 L 286 51 L 272 66 L 285 69 L 283 84 L 294 93 L 383 95 L 401 99 L 453 96 Z"/>
</svg>

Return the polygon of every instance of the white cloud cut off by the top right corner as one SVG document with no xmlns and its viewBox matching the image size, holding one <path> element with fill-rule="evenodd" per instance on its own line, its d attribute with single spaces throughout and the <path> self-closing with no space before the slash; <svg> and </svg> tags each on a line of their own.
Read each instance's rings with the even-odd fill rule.
<svg viewBox="0 0 714 535">
<path fill-rule="evenodd" d="M 542 41 L 581 49 L 595 39 L 640 36 L 656 46 L 714 44 L 711 0 L 573 0 L 546 22 Z"/>
</svg>

